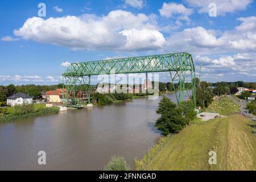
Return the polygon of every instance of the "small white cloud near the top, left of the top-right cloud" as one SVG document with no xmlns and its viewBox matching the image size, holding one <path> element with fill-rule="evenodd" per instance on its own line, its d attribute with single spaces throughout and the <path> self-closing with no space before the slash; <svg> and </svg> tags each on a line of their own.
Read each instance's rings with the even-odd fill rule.
<svg viewBox="0 0 256 182">
<path fill-rule="evenodd" d="M 180 17 L 187 17 L 192 14 L 192 9 L 187 9 L 182 4 L 176 3 L 163 3 L 162 9 L 159 10 L 161 16 L 171 18 L 174 15 L 181 15 Z"/>
</svg>

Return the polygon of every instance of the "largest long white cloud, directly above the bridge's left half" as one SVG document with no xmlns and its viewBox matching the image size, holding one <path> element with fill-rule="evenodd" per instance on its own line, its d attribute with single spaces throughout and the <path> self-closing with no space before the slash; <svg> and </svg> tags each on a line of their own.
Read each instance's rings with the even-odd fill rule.
<svg viewBox="0 0 256 182">
<path fill-rule="evenodd" d="M 100 17 L 90 14 L 46 20 L 33 17 L 27 19 L 19 30 L 14 30 L 14 34 L 36 42 L 87 50 L 155 50 L 162 48 L 166 41 L 152 16 L 122 10 Z M 142 41 L 150 39 L 138 43 L 137 38 L 142 35 Z"/>
</svg>

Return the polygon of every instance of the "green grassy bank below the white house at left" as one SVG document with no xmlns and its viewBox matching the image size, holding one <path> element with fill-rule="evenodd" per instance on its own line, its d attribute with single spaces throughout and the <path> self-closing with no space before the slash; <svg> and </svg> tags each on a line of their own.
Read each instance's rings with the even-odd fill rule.
<svg viewBox="0 0 256 182">
<path fill-rule="evenodd" d="M 0 122 L 15 122 L 19 119 L 35 118 L 42 115 L 59 113 L 59 107 L 46 107 L 46 104 L 34 104 L 33 107 L 33 111 L 22 115 L 15 115 L 14 107 L 7 107 L 7 114 L 0 116 Z"/>
</svg>

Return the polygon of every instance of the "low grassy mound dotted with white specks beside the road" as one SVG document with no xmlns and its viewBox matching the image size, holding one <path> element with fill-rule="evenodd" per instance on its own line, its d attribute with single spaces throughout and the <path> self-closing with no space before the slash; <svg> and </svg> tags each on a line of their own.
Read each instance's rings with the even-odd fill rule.
<svg viewBox="0 0 256 182">
<path fill-rule="evenodd" d="M 240 105 L 237 105 L 228 97 L 224 96 L 219 101 L 213 101 L 213 103 L 205 111 L 218 113 L 221 115 L 228 115 L 239 110 Z"/>
</svg>

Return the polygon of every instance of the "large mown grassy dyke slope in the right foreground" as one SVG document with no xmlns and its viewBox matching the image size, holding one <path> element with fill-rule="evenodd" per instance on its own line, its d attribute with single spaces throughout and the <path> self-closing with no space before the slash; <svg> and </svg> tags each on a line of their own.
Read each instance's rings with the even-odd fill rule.
<svg viewBox="0 0 256 182">
<path fill-rule="evenodd" d="M 256 138 L 241 115 L 185 128 L 151 160 L 147 170 L 256 170 Z M 217 152 L 210 165 L 209 151 Z"/>
</svg>

